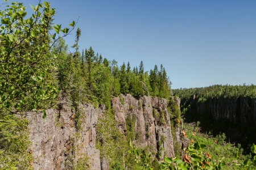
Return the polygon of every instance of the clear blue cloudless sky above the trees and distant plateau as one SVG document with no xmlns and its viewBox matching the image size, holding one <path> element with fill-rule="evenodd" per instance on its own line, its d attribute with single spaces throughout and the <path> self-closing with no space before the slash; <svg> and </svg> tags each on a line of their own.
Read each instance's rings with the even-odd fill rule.
<svg viewBox="0 0 256 170">
<path fill-rule="evenodd" d="M 80 17 L 80 51 L 92 46 L 119 66 L 143 61 L 148 71 L 162 63 L 172 88 L 256 84 L 256 1 L 49 2 L 57 24 Z M 75 34 L 65 38 L 69 46 Z"/>
</svg>

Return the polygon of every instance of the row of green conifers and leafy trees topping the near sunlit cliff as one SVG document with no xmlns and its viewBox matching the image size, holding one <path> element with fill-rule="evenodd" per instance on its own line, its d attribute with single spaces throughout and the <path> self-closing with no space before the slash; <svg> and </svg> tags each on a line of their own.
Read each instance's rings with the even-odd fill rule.
<svg viewBox="0 0 256 170">
<path fill-rule="evenodd" d="M 76 32 L 75 52 L 68 52 L 68 45 L 60 39 L 53 45 L 52 54 L 57 59 L 57 80 L 61 91 L 71 95 L 75 106 L 81 102 L 110 106 L 111 96 L 131 94 L 133 96 L 171 96 L 171 82 L 163 65 L 144 71 L 143 61 L 131 69 L 130 63 L 109 61 L 94 52 L 92 47 L 79 52 L 81 30 Z"/>
</svg>

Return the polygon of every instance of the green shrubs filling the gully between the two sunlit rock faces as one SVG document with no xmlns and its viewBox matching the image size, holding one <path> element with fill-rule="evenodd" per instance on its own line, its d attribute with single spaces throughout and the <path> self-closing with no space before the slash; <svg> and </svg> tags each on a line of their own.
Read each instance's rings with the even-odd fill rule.
<svg viewBox="0 0 256 170">
<path fill-rule="evenodd" d="M 125 136 L 116 128 L 116 122 L 113 120 L 114 115 L 110 110 L 106 111 L 105 116 L 98 120 L 96 148 L 100 150 L 100 158 L 108 159 L 112 169 L 118 169 L 123 164 L 127 169 L 137 169 L 132 155 L 126 154 L 129 146 Z"/>
</svg>

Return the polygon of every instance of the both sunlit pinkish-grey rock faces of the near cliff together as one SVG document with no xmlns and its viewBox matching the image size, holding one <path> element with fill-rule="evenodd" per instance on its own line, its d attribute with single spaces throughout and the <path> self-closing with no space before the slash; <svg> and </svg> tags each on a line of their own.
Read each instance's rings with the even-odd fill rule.
<svg viewBox="0 0 256 170">
<path fill-rule="evenodd" d="M 133 126 L 134 145 L 150 146 L 153 156 L 160 160 L 164 155 L 175 156 L 166 99 L 120 95 L 112 99 L 112 105 L 117 128 L 123 135 Z M 86 104 L 80 111 L 84 115 L 80 130 L 76 128 L 75 112 L 65 102 L 48 109 L 46 118 L 42 118 L 42 113 L 28 116 L 35 169 L 72 169 L 77 164 L 74 161 L 81 162 L 83 158 L 89 169 L 109 169 L 108 160 L 101 162 L 100 151 L 96 149 L 96 125 L 105 108 L 95 109 Z"/>
</svg>

